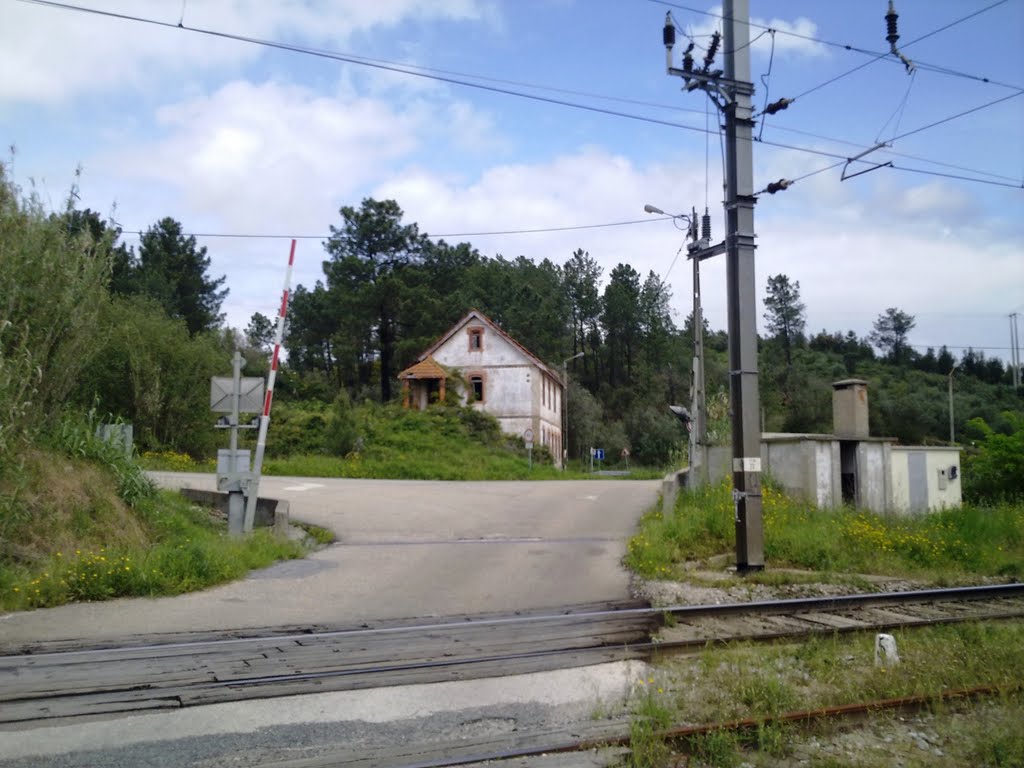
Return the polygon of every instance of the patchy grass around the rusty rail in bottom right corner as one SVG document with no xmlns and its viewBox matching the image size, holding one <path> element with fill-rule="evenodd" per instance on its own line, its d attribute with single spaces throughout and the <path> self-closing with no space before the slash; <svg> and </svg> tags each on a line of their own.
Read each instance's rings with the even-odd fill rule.
<svg viewBox="0 0 1024 768">
<path fill-rule="evenodd" d="M 992 715 L 970 732 L 942 734 L 942 750 L 951 758 L 949 765 L 1021 765 L 1024 625 L 961 624 L 894 634 L 901 659 L 894 666 L 876 666 L 869 633 L 819 636 L 798 645 L 739 643 L 669 659 L 635 687 L 633 764 L 666 765 L 672 759 L 654 725 L 762 720 L 908 695 L 934 697 L 932 711 L 941 716 L 956 711 L 955 705 L 939 701 L 944 691 L 997 686 L 1004 693 Z M 817 735 L 825 737 L 820 730 Z M 765 725 L 713 732 L 692 739 L 689 750 L 698 765 L 774 765 L 773 758 L 790 756 L 801 739 L 795 727 Z M 837 756 L 835 765 L 867 765 L 889 756 L 860 757 L 867 762 L 843 762 Z"/>
</svg>

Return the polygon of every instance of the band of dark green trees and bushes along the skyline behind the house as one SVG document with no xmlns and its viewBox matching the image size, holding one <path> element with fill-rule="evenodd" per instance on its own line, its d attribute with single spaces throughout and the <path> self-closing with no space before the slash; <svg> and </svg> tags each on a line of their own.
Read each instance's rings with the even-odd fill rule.
<svg viewBox="0 0 1024 768">
<path fill-rule="evenodd" d="M 209 378 L 226 373 L 236 348 L 247 374 L 265 371 L 273 324 L 257 313 L 244 332 L 225 327 L 225 279 L 210 274 L 207 249 L 175 219 L 128 248 L 115 225 L 77 210 L 74 196 L 48 212 L 4 173 L 0 456 L 66 406 L 130 421 L 143 450 L 210 455 L 219 435 Z M 575 357 L 566 364 L 571 455 L 628 446 L 638 461 L 662 464 L 685 442 L 666 406 L 689 400 L 692 316 L 677 326 L 671 289 L 655 273 L 620 263 L 605 275 L 583 250 L 561 263 L 485 256 L 469 243 L 431 240 L 394 201 L 367 199 L 339 214 L 323 279 L 293 294 L 280 398 L 392 400 L 396 374 L 476 308 L 556 370 Z M 876 434 L 942 439 L 944 374 L 956 360 L 945 348 L 909 347 L 912 316 L 887 309 L 866 338 L 808 336 L 800 284 L 785 274 L 769 278 L 765 308 L 768 431 L 829 431 L 829 384 L 857 375 L 871 381 Z M 708 388 L 725 402 L 728 339 L 707 322 L 703 333 Z M 959 364 L 958 418 L 998 429 L 1000 410 L 1021 410 L 999 360 L 968 350 Z"/>
</svg>

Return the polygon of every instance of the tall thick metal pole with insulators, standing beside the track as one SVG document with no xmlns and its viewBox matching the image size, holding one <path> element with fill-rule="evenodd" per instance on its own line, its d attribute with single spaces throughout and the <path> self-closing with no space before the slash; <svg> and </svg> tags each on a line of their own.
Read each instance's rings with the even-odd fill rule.
<svg viewBox="0 0 1024 768">
<path fill-rule="evenodd" d="M 716 33 L 703 68 L 693 69 L 692 45 L 683 69 L 672 66 L 676 28 L 666 19 L 664 43 L 670 75 L 685 89 L 703 90 L 725 119 L 726 282 L 729 313 L 729 392 L 732 417 L 732 497 L 736 527 L 736 570 L 764 569 L 761 506 L 761 426 L 758 422 L 757 294 L 754 268 L 754 120 L 751 97 L 750 0 L 725 0 L 722 23 L 725 68 L 713 70 Z"/>
</svg>

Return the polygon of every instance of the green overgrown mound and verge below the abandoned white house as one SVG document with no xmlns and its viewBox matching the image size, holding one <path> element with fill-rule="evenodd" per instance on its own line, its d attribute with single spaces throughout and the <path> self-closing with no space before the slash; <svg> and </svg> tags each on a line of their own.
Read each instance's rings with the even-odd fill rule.
<svg viewBox="0 0 1024 768">
<path fill-rule="evenodd" d="M 287 412 L 286 412 L 287 413 Z M 289 414 L 271 421 L 267 439 L 267 475 L 298 477 L 362 477 L 407 480 L 565 480 L 594 475 L 586 467 L 567 471 L 552 464 L 547 449 L 535 444 L 532 465 L 522 441 L 504 434 L 498 422 L 467 408 L 433 407 L 407 411 L 399 406 L 360 408 L 358 447 L 344 457 L 327 456 L 316 431 L 324 425 Z M 299 430 L 307 434 L 297 434 Z M 213 472 L 212 461 L 196 462 L 181 454 L 145 454 L 148 469 Z M 605 468 L 611 468 L 605 465 Z M 614 469 L 624 469 L 615 466 Z M 631 467 L 630 477 L 660 477 L 660 468 Z"/>
</svg>

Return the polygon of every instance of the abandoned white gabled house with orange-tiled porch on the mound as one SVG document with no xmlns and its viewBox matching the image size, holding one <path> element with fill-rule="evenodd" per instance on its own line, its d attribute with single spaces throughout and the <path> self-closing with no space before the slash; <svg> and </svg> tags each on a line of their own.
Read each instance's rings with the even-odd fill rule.
<svg viewBox="0 0 1024 768">
<path fill-rule="evenodd" d="M 508 434 L 546 446 L 561 466 L 565 387 L 558 373 L 476 309 L 398 374 L 404 407 L 443 400 L 455 373 L 465 382 L 464 402 L 494 416 Z"/>
</svg>

